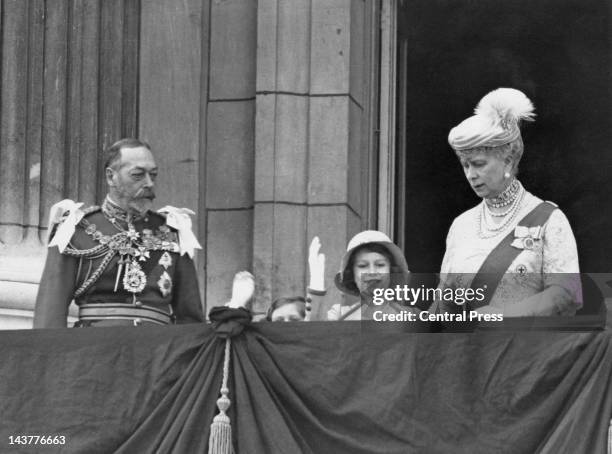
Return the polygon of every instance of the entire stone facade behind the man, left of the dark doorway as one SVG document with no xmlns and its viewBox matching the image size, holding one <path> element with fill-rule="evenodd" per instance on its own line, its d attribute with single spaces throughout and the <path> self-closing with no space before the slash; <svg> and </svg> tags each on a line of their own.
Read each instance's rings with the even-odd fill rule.
<svg viewBox="0 0 612 454">
<path fill-rule="evenodd" d="M 304 294 L 314 235 L 332 285 L 376 222 L 374 3 L 1 1 L 0 328 L 31 325 L 50 205 L 99 203 L 98 151 L 129 135 L 159 161 L 157 204 L 197 211 L 206 309 L 242 269 L 258 311 Z"/>
</svg>

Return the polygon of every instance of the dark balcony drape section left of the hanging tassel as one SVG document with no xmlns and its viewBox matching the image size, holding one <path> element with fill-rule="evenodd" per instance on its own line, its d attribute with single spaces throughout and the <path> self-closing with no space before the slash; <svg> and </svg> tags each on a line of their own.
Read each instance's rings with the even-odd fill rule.
<svg viewBox="0 0 612 454">
<path fill-rule="evenodd" d="M 206 325 L 1 332 L 0 345 L 0 452 L 33 452 L 10 435 L 65 437 L 46 452 L 204 452 L 223 361 Z"/>
</svg>

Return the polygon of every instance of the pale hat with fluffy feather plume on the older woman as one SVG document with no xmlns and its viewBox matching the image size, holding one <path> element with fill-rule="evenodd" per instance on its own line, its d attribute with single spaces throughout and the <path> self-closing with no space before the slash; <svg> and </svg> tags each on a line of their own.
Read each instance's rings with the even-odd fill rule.
<svg viewBox="0 0 612 454">
<path fill-rule="evenodd" d="M 534 107 L 522 91 L 498 88 L 480 100 L 473 116 L 448 134 L 455 151 L 477 147 L 499 147 L 521 136 L 521 120 L 533 121 Z"/>
</svg>

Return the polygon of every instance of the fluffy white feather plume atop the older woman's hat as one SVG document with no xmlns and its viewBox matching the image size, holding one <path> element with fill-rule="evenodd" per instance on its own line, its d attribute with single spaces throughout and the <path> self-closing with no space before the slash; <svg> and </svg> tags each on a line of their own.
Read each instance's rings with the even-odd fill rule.
<svg viewBox="0 0 612 454">
<path fill-rule="evenodd" d="M 521 120 L 533 121 L 534 107 L 522 91 L 514 88 L 498 88 L 480 100 L 474 113 L 499 121 L 502 125 L 518 124 Z"/>
</svg>

